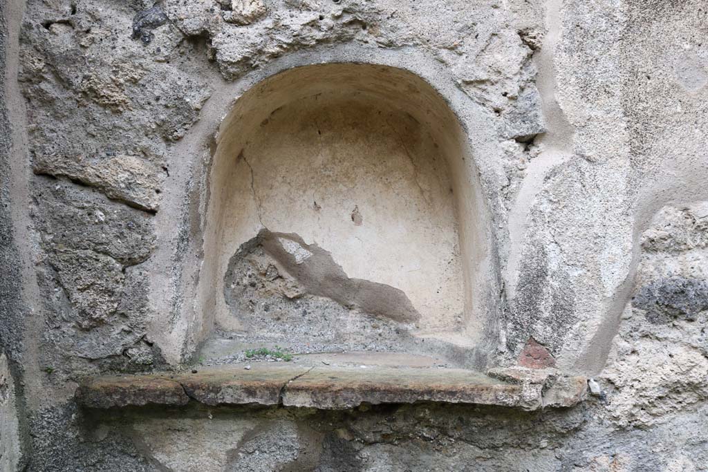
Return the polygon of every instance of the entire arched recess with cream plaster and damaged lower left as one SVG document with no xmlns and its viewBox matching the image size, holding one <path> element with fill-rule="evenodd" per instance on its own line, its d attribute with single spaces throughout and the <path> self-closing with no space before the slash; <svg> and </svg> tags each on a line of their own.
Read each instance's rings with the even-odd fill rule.
<svg viewBox="0 0 708 472">
<path fill-rule="evenodd" d="M 486 207 L 459 120 L 415 74 L 338 63 L 270 76 L 224 118 L 208 185 L 207 330 L 281 345 L 319 334 L 389 347 L 398 336 L 403 349 L 480 342 Z M 285 305 L 259 305 L 264 293 Z M 304 296 L 323 303 L 316 313 Z"/>
</svg>

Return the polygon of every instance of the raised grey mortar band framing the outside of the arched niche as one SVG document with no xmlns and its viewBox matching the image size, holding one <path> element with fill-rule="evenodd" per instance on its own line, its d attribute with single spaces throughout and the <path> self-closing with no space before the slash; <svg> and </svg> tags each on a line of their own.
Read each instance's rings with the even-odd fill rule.
<svg viewBox="0 0 708 472">
<path fill-rule="evenodd" d="M 203 241 L 209 224 L 206 208 L 213 200 L 207 176 L 215 160 L 215 138 L 219 139 L 219 133 L 215 130 L 223 131 L 224 117 L 233 113 L 236 100 L 261 82 L 293 68 L 338 63 L 374 64 L 415 74 L 440 94 L 452 113 L 459 117 L 464 132 L 469 132 L 464 145 L 474 151 L 474 157 L 468 159 L 466 173 L 476 183 L 474 189 L 479 207 L 475 211 L 479 213 L 481 234 L 478 248 L 483 254 L 476 259 L 476 267 L 472 267 L 472 292 L 476 307 L 471 323 L 474 326 L 468 338 L 472 339 L 475 352 L 464 357 L 465 364 L 480 368 L 489 365 L 493 359 L 501 339 L 499 293 L 502 287 L 493 221 L 500 217 L 501 210 L 490 204 L 496 200 L 497 190 L 487 187 L 501 175 L 498 164 L 501 151 L 494 139 L 496 127 L 484 110 L 455 85 L 451 71 L 435 58 L 428 57 L 426 52 L 416 47 L 392 51 L 348 44 L 292 52 L 263 64 L 237 81 L 212 82 L 212 96 L 202 108 L 200 120 L 171 149 L 174 159 L 185 162 L 185 165 L 170 169 L 171 183 L 166 185 L 161 211 L 157 215 L 157 234 L 158 238 L 171 243 L 156 248 L 151 265 L 159 270 L 174 264 L 177 266 L 166 272 L 164 277 L 151 281 L 151 303 L 162 314 L 153 318 L 149 331 L 167 362 L 178 364 L 195 355 L 195 350 L 212 333 L 214 326 L 211 316 L 213 300 L 205 297 L 205 286 L 209 283 Z M 189 156 L 186 161 L 185 156 Z M 481 166 L 479 171 L 477 165 Z M 480 180 L 484 183 L 484 190 Z M 195 200 L 195 197 L 198 198 Z M 185 202 L 190 203 L 185 206 Z M 186 221 L 189 221 L 191 228 L 187 235 L 186 251 L 184 243 L 180 242 L 182 236 L 178 238 L 172 229 L 173 219 L 181 214 L 188 218 Z M 503 238 L 503 234 L 501 236 Z M 169 275 L 171 273 L 177 274 L 178 278 L 173 278 Z"/>
</svg>

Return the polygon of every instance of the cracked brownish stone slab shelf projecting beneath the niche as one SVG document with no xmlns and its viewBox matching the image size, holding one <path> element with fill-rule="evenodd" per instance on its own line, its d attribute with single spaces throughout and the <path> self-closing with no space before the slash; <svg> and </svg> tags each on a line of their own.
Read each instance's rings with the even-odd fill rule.
<svg viewBox="0 0 708 472">
<path fill-rule="evenodd" d="M 76 389 L 86 408 L 142 405 L 285 405 L 348 409 L 362 403 L 432 401 L 500 405 L 522 410 L 569 407 L 586 396 L 587 380 L 554 369 L 302 367 L 254 363 L 202 367 L 196 373 L 103 376 Z"/>
</svg>

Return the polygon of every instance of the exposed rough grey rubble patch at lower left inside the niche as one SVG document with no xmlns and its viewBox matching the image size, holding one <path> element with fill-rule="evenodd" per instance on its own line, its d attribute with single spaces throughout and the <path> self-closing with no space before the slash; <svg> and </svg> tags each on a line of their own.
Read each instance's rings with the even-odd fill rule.
<svg viewBox="0 0 708 472">
<path fill-rule="evenodd" d="M 297 262 L 298 254 L 309 256 Z M 243 333 L 229 339 L 288 346 L 294 352 L 399 350 L 406 327 L 358 308 L 356 294 L 339 293 L 352 284 L 328 272 L 341 271 L 332 264 L 331 256 L 293 235 L 261 231 L 241 245 L 224 276 L 224 299 Z M 313 270 L 332 282 L 330 293 L 324 294 L 324 280 L 318 282 Z"/>
</svg>

